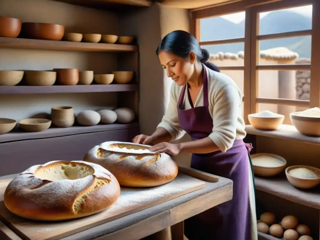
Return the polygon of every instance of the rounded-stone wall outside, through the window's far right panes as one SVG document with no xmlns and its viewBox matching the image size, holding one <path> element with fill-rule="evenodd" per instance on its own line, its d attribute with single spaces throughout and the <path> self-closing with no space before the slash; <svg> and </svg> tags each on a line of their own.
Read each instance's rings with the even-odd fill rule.
<svg viewBox="0 0 320 240">
<path fill-rule="evenodd" d="M 310 64 L 310 59 L 298 59 L 296 64 Z M 296 71 L 297 100 L 310 100 L 310 71 Z"/>
</svg>

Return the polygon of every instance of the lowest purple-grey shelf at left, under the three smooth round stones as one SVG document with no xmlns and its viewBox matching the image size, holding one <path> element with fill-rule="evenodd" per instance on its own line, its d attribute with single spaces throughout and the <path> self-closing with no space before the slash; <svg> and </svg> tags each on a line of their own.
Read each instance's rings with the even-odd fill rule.
<svg viewBox="0 0 320 240">
<path fill-rule="evenodd" d="M 12 132 L 0 135 L 0 143 L 20 141 L 20 140 L 30 140 L 30 139 L 42 139 L 42 138 L 53 138 L 62 137 L 68 135 L 76 135 L 82 133 L 92 133 L 92 132 L 106 132 L 106 131 L 116 131 L 125 130 L 131 128 L 138 128 L 139 123 L 129 123 L 129 124 L 98 124 L 95 126 L 85 127 L 85 126 L 73 126 L 67 128 L 57 128 L 51 127 L 43 132 L 21 132 L 18 128 Z"/>
</svg>

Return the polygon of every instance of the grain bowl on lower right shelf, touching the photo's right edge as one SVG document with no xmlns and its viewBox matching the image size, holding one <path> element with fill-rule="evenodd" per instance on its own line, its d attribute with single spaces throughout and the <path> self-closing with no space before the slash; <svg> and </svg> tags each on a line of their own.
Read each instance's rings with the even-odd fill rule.
<svg viewBox="0 0 320 240">
<path fill-rule="evenodd" d="M 285 169 L 288 181 L 297 188 L 314 188 L 320 183 L 320 169 L 305 165 L 294 165 Z"/>
</svg>

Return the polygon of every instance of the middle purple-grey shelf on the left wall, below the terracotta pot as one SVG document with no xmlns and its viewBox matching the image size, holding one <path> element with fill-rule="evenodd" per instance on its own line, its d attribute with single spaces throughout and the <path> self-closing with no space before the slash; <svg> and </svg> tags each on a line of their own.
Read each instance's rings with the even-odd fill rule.
<svg viewBox="0 0 320 240">
<path fill-rule="evenodd" d="M 74 86 L 0 86 L 0 94 L 130 92 L 138 91 L 138 84 L 74 85 Z"/>
</svg>

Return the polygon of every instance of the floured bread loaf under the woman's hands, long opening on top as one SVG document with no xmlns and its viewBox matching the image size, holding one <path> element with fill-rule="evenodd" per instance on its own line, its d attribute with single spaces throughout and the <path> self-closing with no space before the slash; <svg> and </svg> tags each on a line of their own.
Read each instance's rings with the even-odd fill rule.
<svg viewBox="0 0 320 240">
<path fill-rule="evenodd" d="M 130 142 L 104 142 L 92 148 L 84 161 L 99 164 L 115 175 L 123 187 L 154 187 L 172 181 L 178 165 L 165 153 Z"/>
</svg>

